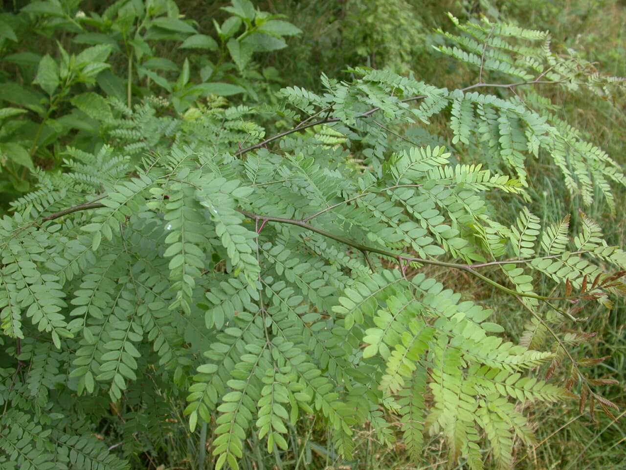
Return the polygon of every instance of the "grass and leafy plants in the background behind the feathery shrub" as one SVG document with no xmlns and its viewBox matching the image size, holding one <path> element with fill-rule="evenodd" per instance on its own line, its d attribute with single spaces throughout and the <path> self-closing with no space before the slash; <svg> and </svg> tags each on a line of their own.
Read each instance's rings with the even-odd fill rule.
<svg viewBox="0 0 626 470">
<path fill-rule="evenodd" d="M 351 66 L 390 68 L 437 86 L 469 83 L 475 71 L 458 61 L 431 53 L 441 44 L 434 28 L 448 28 L 446 12 L 466 20 L 485 15 L 526 28 L 545 29 L 553 34 L 558 48 L 575 48 L 598 70 L 626 75 L 626 4 L 622 0 L 267 0 L 255 3 L 267 18 L 276 21 L 272 31 L 263 24 L 246 24 L 229 2 L 178 0 L 118 1 L 90 0 L 5 1 L 0 13 L 0 211 L 11 212 L 10 201 L 33 189 L 40 172 L 61 171 L 68 147 L 91 151 L 103 143 L 113 125 L 105 97 L 116 97 L 129 107 L 141 100 L 162 96 L 172 106 L 164 113 L 193 118 L 200 98 L 232 103 L 277 103 L 282 86 L 302 86 L 319 91 L 319 76 L 349 78 Z M 226 7 L 226 8 L 225 8 Z M 126 15 L 120 15 L 125 10 Z M 173 20 L 173 10 L 180 18 Z M 267 28 L 267 27 L 266 27 Z M 175 45 L 173 45 L 175 44 Z M 93 47 L 96 46 L 96 47 Z M 472 75 L 474 74 L 474 75 Z M 60 76 L 58 80 L 56 76 Z M 625 164 L 626 99 L 599 102 L 587 95 L 567 99 L 554 88 L 550 100 L 555 113 L 582 129 L 595 144 Z M 219 95 L 220 98 L 216 98 Z M 152 98 L 151 98 L 152 99 Z M 284 130 L 289 120 L 267 122 L 271 135 Z M 436 122 L 435 122 L 436 125 Z M 420 140 L 419 130 L 404 132 Z M 446 122 L 433 131 L 449 145 L 453 135 Z M 332 139 L 332 135 L 328 137 Z M 332 140 L 329 140 L 332 143 Z M 438 142 L 434 142 L 435 144 Z M 149 152 L 148 141 L 128 144 L 133 152 Z M 468 150 L 469 149 L 469 150 Z M 471 161 L 471 147 L 455 147 L 463 161 Z M 352 155 L 359 164 L 359 155 Z M 535 191 L 531 211 L 542 221 L 557 222 L 579 204 L 570 200 L 562 177 L 552 165 L 532 162 L 528 170 L 530 191 Z M 605 227 L 608 243 L 624 246 L 626 237 L 626 191 L 614 192 L 617 211 L 598 202 L 586 209 L 588 216 Z M 597 199 L 600 201 L 600 199 Z M 492 201 L 501 213 L 517 213 L 510 201 Z M 566 207 L 568 209 L 566 209 Z M 582 209 L 582 207 L 580 207 Z M 580 226 L 575 217 L 572 226 Z M 436 272 L 436 269 L 433 268 Z M 450 274 L 452 276 L 452 274 Z M 456 274 L 454 274 L 456 275 Z M 458 276 L 449 278 L 455 290 L 482 305 L 499 303 L 484 285 Z M 498 305 L 495 305 L 498 306 Z M 528 315 L 521 310 L 498 318 L 514 342 L 525 330 Z M 604 390 L 607 399 L 626 409 L 626 308 L 618 299 L 613 310 L 589 311 L 586 326 L 597 333 L 575 346 L 573 353 L 607 357 L 592 365 L 588 375 L 615 379 L 618 384 Z M 578 349 L 576 349 L 578 348 Z M 124 416 L 113 407 L 98 426 L 98 438 L 112 452 L 123 447 L 124 436 L 140 441 L 142 451 L 133 464 L 149 468 L 197 468 L 198 433 L 188 431 L 184 404 L 171 404 L 172 422 L 163 441 L 135 436 L 124 429 Z M 518 455 L 519 469 L 626 468 L 626 426 L 605 414 L 591 416 L 571 404 L 541 409 L 536 429 L 539 445 L 530 454 Z M 446 451 L 433 439 L 424 447 L 428 463 L 411 462 L 403 444 L 391 449 L 377 444 L 369 427 L 357 430 L 353 461 L 343 461 L 329 443 L 324 428 L 310 422 L 290 429 L 295 457 L 281 460 L 265 452 L 247 455 L 242 465 L 250 469 L 444 468 Z M 117 449 L 117 450 L 120 450 Z"/>
</svg>

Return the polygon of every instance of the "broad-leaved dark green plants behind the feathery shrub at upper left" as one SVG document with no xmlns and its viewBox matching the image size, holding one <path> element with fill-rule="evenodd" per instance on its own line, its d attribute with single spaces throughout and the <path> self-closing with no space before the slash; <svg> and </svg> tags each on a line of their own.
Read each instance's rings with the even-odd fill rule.
<svg viewBox="0 0 626 470">
<path fill-rule="evenodd" d="M 173 0 L 104 2 L 106 8 L 88 14 L 80 3 L 34 1 L 0 13 L 3 194 L 29 191 L 35 163 L 59 165 L 62 146 L 100 147 L 105 130 L 123 132 L 103 95 L 128 107 L 165 95 L 179 113 L 210 95 L 258 100 L 271 90 L 265 77 L 275 70 L 249 71 L 253 56 L 285 48 L 285 37 L 301 33 L 249 0 L 223 8 L 231 16 L 211 25 L 217 39 L 180 18 Z M 160 55 L 163 48 L 176 48 L 184 60 Z"/>
</svg>

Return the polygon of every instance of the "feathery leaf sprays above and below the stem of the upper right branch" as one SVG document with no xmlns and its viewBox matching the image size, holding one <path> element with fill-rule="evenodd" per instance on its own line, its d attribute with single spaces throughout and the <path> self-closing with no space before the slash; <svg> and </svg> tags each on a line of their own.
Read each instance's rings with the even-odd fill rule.
<svg viewBox="0 0 626 470">
<path fill-rule="evenodd" d="M 593 73 L 592 65 L 573 51 L 570 55 L 553 53 L 548 33 L 510 24 L 491 24 L 486 20 L 462 25 L 453 16 L 451 19 L 464 34 L 441 31 L 454 46 L 438 46 L 436 49 L 479 68 L 479 86 L 488 83 L 484 80 L 487 72 L 493 77 L 516 78 L 516 81 L 507 82 L 511 87 L 524 83 L 557 82 L 568 90 L 587 90 L 600 95 L 605 91 L 602 85 L 597 85 L 617 83 L 612 77 L 600 79 Z M 514 38 L 525 41 L 516 42 Z M 523 184 L 526 184 L 523 163 L 526 152 L 536 156 L 543 149 L 552 155 L 555 165 L 562 170 L 572 194 L 580 195 L 583 203 L 588 205 L 593 200 L 593 187 L 599 187 L 614 211 L 607 180 L 623 184 L 622 169 L 608 159 L 605 152 L 585 142 L 578 130 L 547 110 L 519 107 L 521 103 L 518 100 L 504 103 L 493 96 L 459 91 L 451 93 L 450 97 L 453 98 L 453 117 L 450 120 L 453 143 L 469 144 L 473 128 L 471 122 L 475 118 L 472 103 L 476 103 L 476 118 L 482 122 L 482 125 L 476 126 L 481 135 L 476 140 L 486 142 L 485 150 L 493 155 L 493 159 L 501 159 L 506 167 L 514 169 Z"/>
</svg>

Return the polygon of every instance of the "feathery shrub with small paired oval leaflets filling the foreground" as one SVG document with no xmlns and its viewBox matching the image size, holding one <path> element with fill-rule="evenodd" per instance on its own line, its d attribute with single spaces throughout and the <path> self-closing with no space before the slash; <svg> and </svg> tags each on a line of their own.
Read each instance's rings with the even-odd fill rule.
<svg viewBox="0 0 626 470">
<path fill-rule="evenodd" d="M 220 26 L 225 38 L 245 23 L 245 37 L 272 48 L 276 35 L 297 32 L 245 0 L 227 11 L 235 19 Z M 195 32 L 179 18 L 151 21 L 159 34 Z M 596 84 L 573 59 L 536 46 L 546 33 L 458 26 L 462 36 L 444 34 L 456 46 L 439 50 L 503 84 L 521 77 L 510 85 L 520 93 L 538 76 L 572 91 Z M 190 38 L 186 47 L 212 44 Z M 231 40 L 241 65 L 245 43 Z M 511 468 L 515 440 L 535 442 L 518 404 L 543 409 L 576 396 L 573 383 L 539 377 L 578 338 L 541 350 L 552 330 L 536 311 L 548 305 L 576 320 L 572 301 L 609 305 L 623 291 L 613 274 L 626 257 L 596 222 L 582 215 L 570 241 L 567 217 L 546 224 L 525 205 L 526 159 L 554 159 L 559 140 L 585 144 L 518 95 L 469 91 L 507 88 L 498 83 L 449 91 L 391 71 L 352 73 L 351 82 L 322 75 L 323 93 L 284 88 L 277 107 L 110 100 L 109 146 L 68 149 L 66 171 L 36 172 L 36 191 L 0 221 L 0 358 L 11 364 L 0 369 L 0 404 L 11 407 L 0 458 L 24 468 L 79 458 L 125 467 L 84 437 L 95 424 L 83 415 L 111 407 L 127 417 L 121 450 L 131 461 L 148 447 L 134 437 L 163 441 L 170 403 L 183 400 L 189 431 L 214 437 L 217 470 L 238 469 L 259 450 L 249 442 L 290 452 L 290 429 L 310 415 L 346 458 L 366 422 L 391 446 L 399 420 L 416 459 L 424 432 L 439 436 L 451 464 L 471 469 Z M 76 106 L 98 107 L 83 98 Z M 261 112 L 293 127 L 266 138 Z M 452 128 L 449 145 L 418 145 L 392 130 L 435 117 Z M 446 150 L 456 144 L 486 154 L 461 162 Z M 560 158 L 624 183 L 595 147 Z M 585 175 L 580 167 L 564 177 L 588 204 L 605 180 Z M 492 193 L 521 206 L 512 226 Z M 482 301 L 444 285 L 438 269 L 523 302 L 532 315 L 523 344 L 507 340 Z"/>
</svg>

